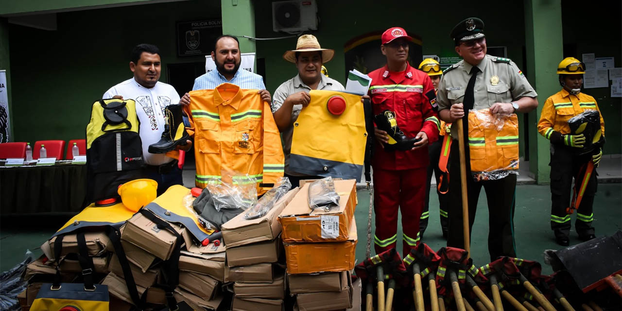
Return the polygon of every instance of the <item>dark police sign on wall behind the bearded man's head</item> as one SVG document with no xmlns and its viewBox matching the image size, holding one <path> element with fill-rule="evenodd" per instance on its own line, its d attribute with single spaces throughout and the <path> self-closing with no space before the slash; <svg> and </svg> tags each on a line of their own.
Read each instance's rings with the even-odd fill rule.
<svg viewBox="0 0 622 311">
<path fill-rule="evenodd" d="M 209 54 L 214 40 L 222 34 L 223 22 L 220 19 L 177 22 L 177 55 Z"/>
</svg>

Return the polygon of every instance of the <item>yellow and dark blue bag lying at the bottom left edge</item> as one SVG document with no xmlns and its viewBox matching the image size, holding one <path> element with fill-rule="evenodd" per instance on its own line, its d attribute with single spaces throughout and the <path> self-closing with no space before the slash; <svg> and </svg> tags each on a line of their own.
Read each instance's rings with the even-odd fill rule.
<svg viewBox="0 0 622 311">
<path fill-rule="evenodd" d="M 43 284 L 30 311 L 108 311 L 108 286 L 95 285 L 86 290 L 84 284 L 61 283 L 58 287 Z"/>
</svg>

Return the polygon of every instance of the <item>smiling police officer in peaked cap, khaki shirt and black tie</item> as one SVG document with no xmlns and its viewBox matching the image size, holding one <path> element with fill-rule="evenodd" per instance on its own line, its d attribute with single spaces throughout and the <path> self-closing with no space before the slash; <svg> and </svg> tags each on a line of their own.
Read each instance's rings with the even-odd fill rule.
<svg viewBox="0 0 622 311">
<path fill-rule="evenodd" d="M 484 22 L 470 17 L 458 23 L 451 32 L 455 50 L 463 60 L 455 63 L 443 72 L 439 83 L 437 103 L 439 116 L 453 123 L 463 119 L 464 137 L 468 137 L 468 111 L 470 109 L 490 108 L 490 112 L 499 116 L 513 113 L 527 113 L 538 105 L 536 91 L 522 74 L 516 64 L 508 58 L 486 54 Z M 458 139 L 456 131 L 451 132 L 453 139 Z M 449 172 L 453 177 L 449 181 L 449 235 L 447 246 L 464 248 L 462 231 L 462 185 L 460 183 L 460 157 L 458 142 L 452 144 Z M 498 256 L 516 256 L 514 248 L 514 192 L 516 175 L 497 180 L 476 182 L 471 178 L 466 154 L 466 187 L 468 193 L 469 230 L 475 221 L 475 210 L 481 187 L 484 187 L 489 211 L 488 251 L 491 260 Z M 496 159 L 491 159 L 492 161 Z"/>
</svg>

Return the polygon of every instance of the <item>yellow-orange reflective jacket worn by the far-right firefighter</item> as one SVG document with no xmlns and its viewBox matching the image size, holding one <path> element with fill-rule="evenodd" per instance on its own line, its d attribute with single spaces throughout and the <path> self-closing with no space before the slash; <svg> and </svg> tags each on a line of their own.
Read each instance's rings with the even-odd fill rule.
<svg viewBox="0 0 622 311">
<path fill-rule="evenodd" d="M 538 132 L 546 139 L 550 139 L 554 132 L 559 132 L 562 135 L 570 134 L 568 120 L 588 109 L 598 110 L 600 113 L 598 104 L 592 96 L 583 93 L 572 95 L 562 88 L 561 91 L 550 96 L 544 102 L 538 122 Z M 602 114 L 600 115 L 600 130 L 605 136 L 605 121 Z"/>
</svg>

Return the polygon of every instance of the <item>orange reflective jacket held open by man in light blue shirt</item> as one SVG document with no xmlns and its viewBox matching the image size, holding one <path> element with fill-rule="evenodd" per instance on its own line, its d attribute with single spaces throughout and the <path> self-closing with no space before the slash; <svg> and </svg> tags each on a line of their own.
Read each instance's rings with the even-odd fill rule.
<svg viewBox="0 0 622 311">
<path fill-rule="evenodd" d="M 191 91 L 184 109 L 190 120 L 188 133 L 195 136 L 197 187 L 236 183 L 227 173 L 233 172 L 254 178 L 262 195 L 283 177 L 279 129 L 258 90 L 223 83 L 214 90 Z"/>
</svg>

